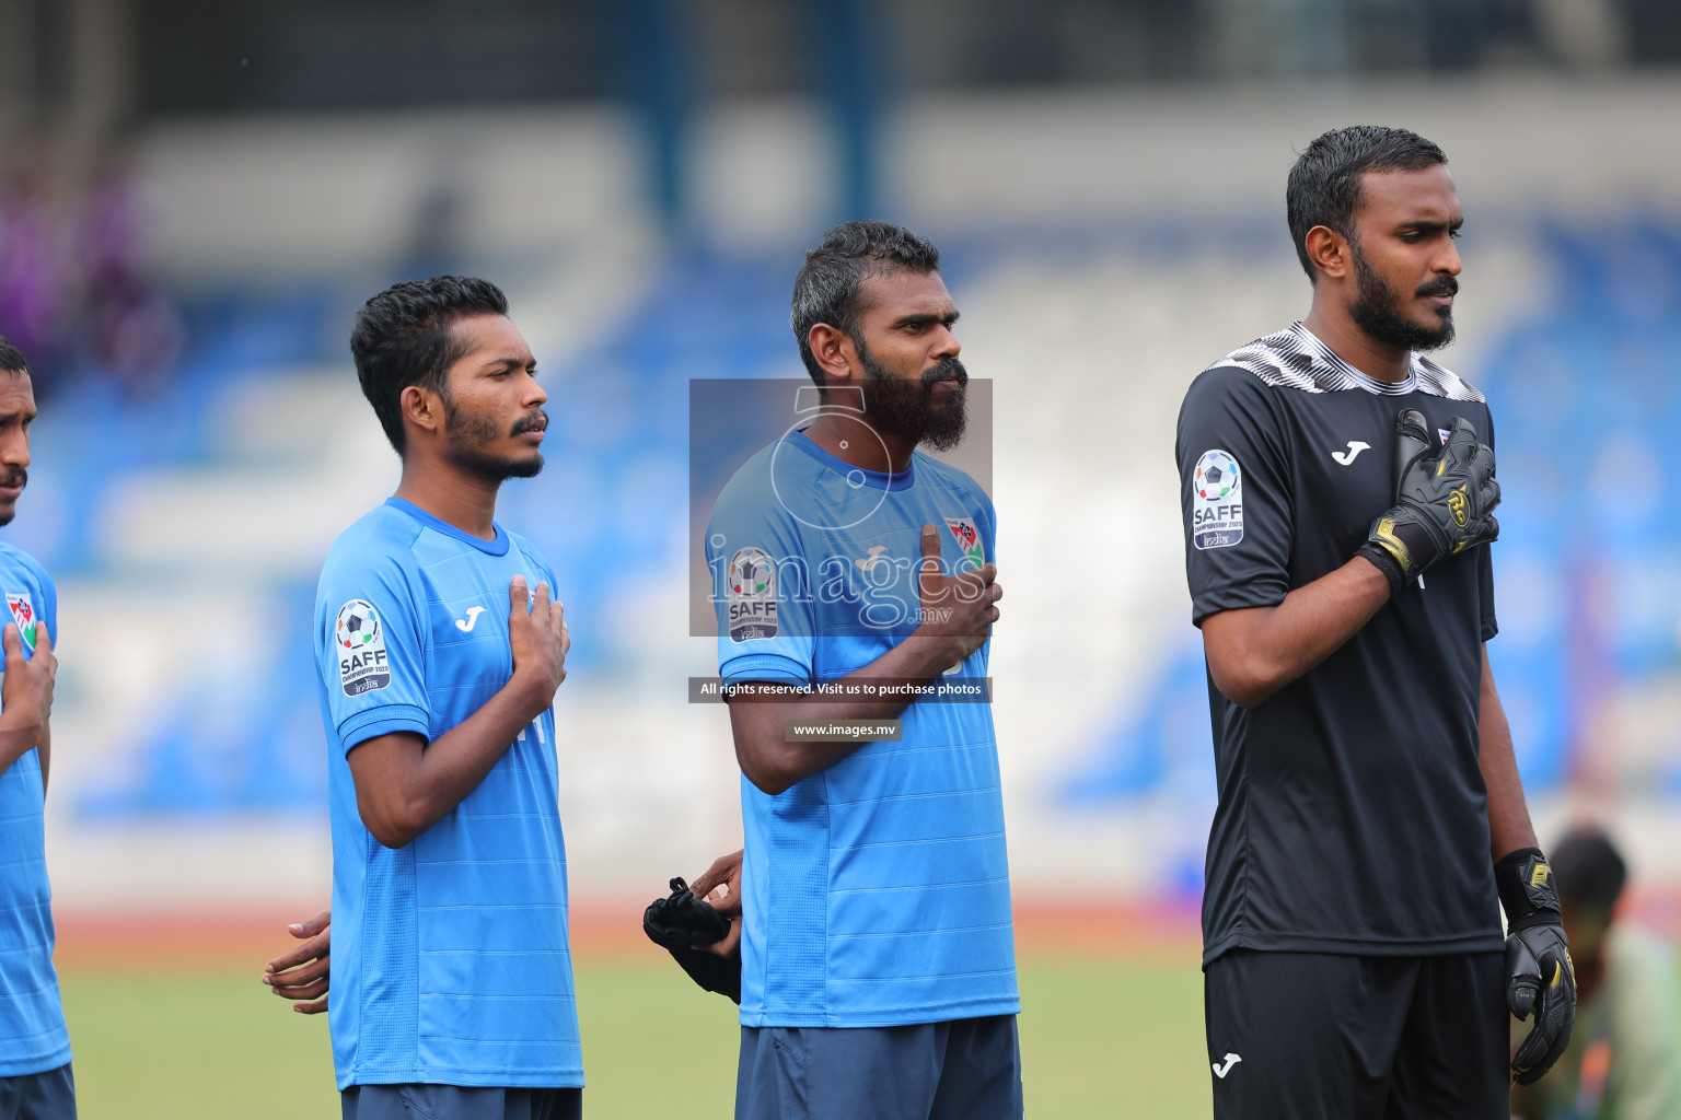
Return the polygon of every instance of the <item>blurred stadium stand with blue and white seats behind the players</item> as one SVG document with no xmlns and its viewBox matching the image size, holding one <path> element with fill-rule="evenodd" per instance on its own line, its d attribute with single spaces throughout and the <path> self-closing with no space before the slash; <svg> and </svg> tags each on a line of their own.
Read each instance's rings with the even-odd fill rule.
<svg viewBox="0 0 1681 1120">
<path fill-rule="evenodd" d="M 1439 139 L 1466 203 L 1444 361 L 1501 425 L 1491 653 L 1543 835 L 1614 813 L 1637 871 L 1681 885 L 1668 5 L 1279 0 L 1254 24 L 1237 0 L 916 0 L 893 35 L 842 0 L 691 24 L 666 0 L 434 7 L 420 35 L 385 0 L 0 5 L 42 59 L 128 59 L 126 92 L 12 72 L 5 128 L 124 138 L 134 260 L 180 324 L 158 378 L 62 348 L 5 529 L 62 588 L 61 900 L 324 893 L 314 576 L 397 479 L 345 338 L 365 296 L 440 269 L 509 289 L 551 393 L 548 468 L 501 517 L 555 563 L 577 638 L 578 890 L 646 893 L 731 845 L 725 720 L 682 702 L 714 667 L 686 633 L 688 383 L 800 376 L 798 254 L 869 198 L 940 242 L 995 379 L 1017 888 L 1194 897 L 1214 779 L 1173 416 L 1202 366 L 1304 311 L 1284 170 L 1355 119 Z M 87 18 L 129 32 L 89 42 Z M 879 89 L 805 79 L 847 35 L 893 40 Z M 627 77 L 684 44 L 691 72 Z"/>
</svg>

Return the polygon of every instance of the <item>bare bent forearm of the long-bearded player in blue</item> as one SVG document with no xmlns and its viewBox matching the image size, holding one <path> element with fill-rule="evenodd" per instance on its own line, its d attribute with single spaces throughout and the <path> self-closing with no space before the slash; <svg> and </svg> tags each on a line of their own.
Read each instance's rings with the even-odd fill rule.
<svg viewBox="0 0 1681 1120">
<path fill-rule="evenodd" d="M 840 683 L 867 680 L 888 685 L 926 685 L 962 660 L 960 650 L 946 638 L 909 636 L 869 665 L 840 678 Z M 765 685 L 760 685 L 765 688 Z M 778 688 L 793 693 L 793 688 Z M 893 719 L 911 699 L 903 692 L 857 700 L 824 695 L 788 699 L 750 699 L 730 702 L 730 727 L 735 732 L 736 761 L 746 779 L 775 796 L 852 754 L 862 742 L 787 742 L 785 720 Z"/>
</svg>

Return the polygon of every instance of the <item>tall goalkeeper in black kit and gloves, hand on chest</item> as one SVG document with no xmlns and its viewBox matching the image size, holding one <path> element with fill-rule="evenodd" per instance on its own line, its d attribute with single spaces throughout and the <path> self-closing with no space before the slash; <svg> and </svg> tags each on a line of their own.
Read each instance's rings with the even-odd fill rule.
<svg viewBox="0 0 1681 1120">
<path fill-rule="evenodd" d="M 1494 430 L 1420 354 L 1454 332 L 1446 163 L 1405 129 L 1315 139 L 1286 191 L 1313 307 L 1209 366 L 1178 418 L 1222 1118 L 1506 1120 L 1508 1060 L 1530 1081 L 1570 1039 L 1558 895 L 1484 648 Z M 1508 1006 L 1535 1014 L 1516 1056 Z"/>
</svg>

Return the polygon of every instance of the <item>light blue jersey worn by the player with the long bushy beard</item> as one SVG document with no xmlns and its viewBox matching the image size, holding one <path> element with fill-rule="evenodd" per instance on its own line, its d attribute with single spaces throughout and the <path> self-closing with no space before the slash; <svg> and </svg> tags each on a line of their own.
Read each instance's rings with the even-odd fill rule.
<svg viewBox="0 0 1681 1120">
<path fill-rule="evenodd" d="M 916 453 L 859 470 L 792 433 L 730 480 L 706 531 L 719 675 L 819 685 L 920 623 L 921 529 L 945 569 L 993 561 L 992 500 Z M 987 675 L 988 645 L 960 677 Z M 743 1026 L 899 1026 L 1015 1014 L 1015 942 L 990 704 L 918 700 L 778 796 L 741 779 Z"/>
</svg>

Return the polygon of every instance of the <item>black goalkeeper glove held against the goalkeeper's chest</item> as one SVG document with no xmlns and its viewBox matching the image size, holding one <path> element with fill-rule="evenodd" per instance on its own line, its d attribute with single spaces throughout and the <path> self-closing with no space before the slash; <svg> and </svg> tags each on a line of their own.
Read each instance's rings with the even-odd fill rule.
<svg viewBox="0 0 1681 1120">
<path fill-rule="evenodd" d="M 1441 453 L 1429 448 L 1424 415 L 1404 408 L 1395 418 L 1395 505 L 1355 551 L 1389 576 L 1394 594 L 1437 561 L 1499 536 L 1494 452 L 1478 443 L 1471 421 L 1454 416 Z"/>
</svg>

